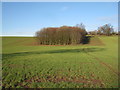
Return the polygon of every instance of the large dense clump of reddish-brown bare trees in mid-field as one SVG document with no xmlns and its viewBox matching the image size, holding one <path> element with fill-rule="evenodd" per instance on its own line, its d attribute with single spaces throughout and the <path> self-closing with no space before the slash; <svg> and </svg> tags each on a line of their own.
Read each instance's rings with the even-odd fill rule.
<svg viewBox="0 0 120 90">
<path fill-rule="evenodd" d="M 69 45 L 84 43 L 86 30 L 83 24 L 71 27 L 48 27 L 36 32 L 39 44 L 42 45 Z"/>
</svg>

